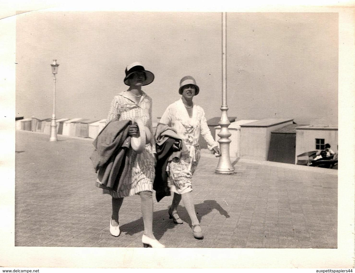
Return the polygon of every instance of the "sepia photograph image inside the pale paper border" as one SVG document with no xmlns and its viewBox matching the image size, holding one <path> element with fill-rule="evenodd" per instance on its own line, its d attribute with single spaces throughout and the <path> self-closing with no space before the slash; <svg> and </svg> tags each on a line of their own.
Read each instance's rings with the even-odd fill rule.
<svg viewBox="0 0 355 273">
<path fill-rule="evenodd" d="M 340 20 L 17 10 L 13 246 L 331 256 Z"/>
</svg>

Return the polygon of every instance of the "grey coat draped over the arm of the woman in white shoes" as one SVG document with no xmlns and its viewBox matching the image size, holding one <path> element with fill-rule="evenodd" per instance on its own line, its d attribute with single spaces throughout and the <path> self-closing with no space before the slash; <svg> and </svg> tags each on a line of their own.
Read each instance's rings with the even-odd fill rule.
<svg viewBox="0 0 355 273">
<path fill-rule="evenodd" d="M 130 120 L 111 120 L 93 141 L 90 159 L 98 173 L 97 187 L 119 191 L 120 178 L 128 171 L 125 162 L 129 160 L 130 124 Z"/>
</svg>

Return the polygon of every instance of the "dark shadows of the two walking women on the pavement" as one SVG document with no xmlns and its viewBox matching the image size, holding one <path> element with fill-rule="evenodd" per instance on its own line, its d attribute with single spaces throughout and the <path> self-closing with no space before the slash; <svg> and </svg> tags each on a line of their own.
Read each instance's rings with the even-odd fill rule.
<svg viewBox="0 0 355 273">
<path fill-rule="evenodd" d="M 198 221 L 201 222 L 201 218 L 209 214 L 212 210 L 218 210 L 221 215 L 229 218 L 229 214 L 225 211 L 215 200 L 204 200 L 203 203 L 196 204 L 195 210 Z M 186 209 L 183 206 L 178 208 L 179 216 L 182 221 L 186 222 L 191 226 L 191 220 L 189 214 L 187 214 Z M 153 233 L 154 236 L 159 240 L 164 233 L 173 229 L 176 226 L 173 220 L 169 219 L 168 209 L 154 211 L 153 213 Z M 126 232 L 127 235 L 133 235 L 144 231 L 144 224 L 142 217 L 136 221 L 129 222 L 125 225 L 120 226 L 121 232 Z"/>
</svg>

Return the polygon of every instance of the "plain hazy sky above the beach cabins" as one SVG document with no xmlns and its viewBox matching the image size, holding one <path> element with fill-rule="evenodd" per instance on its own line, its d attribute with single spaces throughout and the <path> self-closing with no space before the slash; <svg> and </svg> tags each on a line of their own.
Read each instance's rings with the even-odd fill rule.
<svg viewBox="0 0 355 273">
<path fill-rule="evenodd" d="M 194 99 L 220 116 L 222 15 L 217 12 L 48 12 L 17 15 L 16 116 L 104 119 L 127 64 L 155 75 L 143 90 L 153 121 L 195 77 Z M 228 115 L 237 119 L 338 119 L 338 14 L 227 13 Z"/>
</svg>

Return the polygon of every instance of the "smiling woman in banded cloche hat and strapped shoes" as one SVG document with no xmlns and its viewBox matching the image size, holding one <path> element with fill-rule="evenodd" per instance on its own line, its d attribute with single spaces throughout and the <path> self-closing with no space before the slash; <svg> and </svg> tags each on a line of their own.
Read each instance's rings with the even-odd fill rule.
<svg viewBox="0 0 355 273">
<path fill-rule="evenodd" d="M 193 236 L 203 239 L 191 193 L 192 174 L 200 160 L 200 146 L 198 145 L 200 134 L 206 140 L 208 148 L 217 156 L 220 156 L 220 149 L 209 131 L 202 107 L 192 102 L 193 97 L 199 93 L 200 88 L 196 85 L 193 77 L 185 76 L 180 80 L 179 94 L 181 99 L 166 108 L 159 121 L 156 137 L 159 137 L 159 132 L 164 131 L 164 127 L 173 127 L 189 149 L 188 153 L 181 153 L 179 159 L 173 159 L 170 162 L 168 186 L 170 191 L 174 192 L 174 198 L 168 212 L 175 224 L 183 224 L 177 213 L 178 205 L 182 199 L 191 219 Z"/>
</svg>

